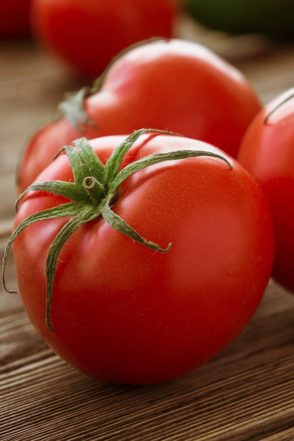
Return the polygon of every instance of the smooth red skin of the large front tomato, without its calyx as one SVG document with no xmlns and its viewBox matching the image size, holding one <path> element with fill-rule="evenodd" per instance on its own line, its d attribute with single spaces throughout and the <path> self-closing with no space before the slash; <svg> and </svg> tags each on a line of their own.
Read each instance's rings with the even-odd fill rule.
<svg viewBox="0 0 294 441">
<path fill-rule="evenodd" d="M 218 149 L 192 139 L 145 136 L 123 166 L 150 153 Z M 123 137 L 91 141 L 105 163 Z M 45 325 L 45 260 L 68 218 L 40 221 L 14 243 L 19 289 L 37 331 L 60 357 L 101 380 L 167 381 L 207 362 L 256 310 L 273 262 L 268 204 L 240 164 L 215 158 L 169 161 L 135 173 L 114 205 L 161 254 L 112 230 L 101 218 L 68 239 L 57 263 L 51 322 Z M 73 180 L 61 156 L 38 178 Z M 26 196 L 25 217 L 64 202 Z"/>
</svg>

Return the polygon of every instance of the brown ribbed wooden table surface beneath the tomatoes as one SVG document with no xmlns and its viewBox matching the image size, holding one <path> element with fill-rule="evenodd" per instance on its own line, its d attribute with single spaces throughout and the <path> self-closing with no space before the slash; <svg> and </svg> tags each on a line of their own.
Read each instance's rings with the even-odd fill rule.
<svg viewBox="0 0 294 441">
<path fill-rule="evenodd" d="M 294 42 L 179 26 L 236 65 L 264 102 L 292 87 Z M 14 217 L 14 172 L 30 130 L 82 84 L 31 42 L 0 44 L 0 247 Z M 15 287 L 12 255 L 7 284 Z M 294 440 L 294 297 L 270 281 L 242 334 L 212 362 L 149 387 L 105 384 L 59 359 L 19 295 L 0 293 L 0 440 Z"/>
</svg>

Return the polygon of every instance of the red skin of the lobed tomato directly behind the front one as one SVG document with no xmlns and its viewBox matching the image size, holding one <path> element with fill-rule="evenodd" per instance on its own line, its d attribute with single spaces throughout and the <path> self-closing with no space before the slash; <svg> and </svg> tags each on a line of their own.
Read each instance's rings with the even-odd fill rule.
<svg viewBox="0 0 294 441">
<path fill-rule="evenodd" d="M 240 72 L 203 46 L 181 40 L 157 41 L 127 52 L 84 107 L 97 126 L 83 126 L 86 138 L 155 127 L 209 142 L 231 156 L 261 108 Z M 80 136 L 65 119 L 38 131 L 22 157 L 19 192 L 60 148 Z"/>
</svg>

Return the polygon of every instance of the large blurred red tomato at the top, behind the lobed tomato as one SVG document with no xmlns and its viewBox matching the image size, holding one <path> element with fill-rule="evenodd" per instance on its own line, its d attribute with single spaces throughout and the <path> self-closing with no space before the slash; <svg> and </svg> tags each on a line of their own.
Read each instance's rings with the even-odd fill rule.
<svg viewBox="0 0 294 441">
<path fill-rule="evenodd" d="M 82 74 L 95 77 L 127 46 L 170 38 L 175 0 L 33 0 L 36 36 Z"/>
</svg>

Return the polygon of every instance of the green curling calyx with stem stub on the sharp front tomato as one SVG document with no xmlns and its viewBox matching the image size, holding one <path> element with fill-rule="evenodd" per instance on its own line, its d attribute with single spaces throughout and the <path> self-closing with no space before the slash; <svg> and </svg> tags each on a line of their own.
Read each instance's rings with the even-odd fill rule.
<svg viewBox="0 0 294 441">
<path fill-rule="evenodd" d="M 24 219 L 18 227 L 15 228 L 15 231 L 12 233 L 4 251 L 2 267 L 3 285 L 7 292 L 14 292 L 7 290 L 4 280 L 5 262 L 13 241 L 33 222 L 44 221 L 56 217 L 71 217 L 63 228 L 61 228 L 55 240 L 49 247 L 46 260 L 46 324 L 48 329 L 52 332 L 54 332 L 54 329 L 50 323 L 50 308 L 56 263 L 63 245 L 78 227 L 89 221 L 103 217 L 104 221 L 106 221 L 113 229 L 118 230 L 145 247 L 149 247 L 152 250 L 161 253 L 166 253 L 171 248 L 171 243 L 169 243 L 166 248 L 161 248 L 156 243 L 147 241 L 134 231 L 130 225 L 123 221 L 118 214 L 112 211 L 112 203 L 117 198 L 119 186 L 125 179 L 133 173 L 152 164 L 198 156 L 219 158 L 220 160 L 225 161 L 229 168 L 232 168 L 226 158 L 216 153 L 195 150 L 178 150 L 169 153 L 156 153 L 143 157 L 120 170 L 123 157 L 134 142 L 145 132 L 177 135 L 175 133 L 154 129 L 141 129 L 134 131 L 113 151 L 105 166 L 94 153 L 86 138 L 77 139 L 73 142 L 74 146 L 66 146 L 63 148 L 73 171 L 74 183 L 64 181 L 35 182 L 30 185 L 30 187 L 28 187 L 16 201 L 16 209 L 18 209 L 23 196 L 29 191 L 47 191 L 52 194 L 63 196 L 71 201 L 32 214 Z"/>
</svg>

